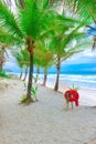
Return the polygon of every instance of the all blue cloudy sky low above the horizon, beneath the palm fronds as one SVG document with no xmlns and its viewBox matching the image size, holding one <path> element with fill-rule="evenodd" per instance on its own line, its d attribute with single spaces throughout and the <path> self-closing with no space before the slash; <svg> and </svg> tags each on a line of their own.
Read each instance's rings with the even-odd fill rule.
<svg viewBox="0 0 96 144">
<path fill-rule="evenodd" d="M 14 58 L 11 54 L 4 64 L 4 69 L 12 72 L 20 71 Z M 56 72 L 55 66 L 51 68 L 49 72 L 55 73 Z M 92 52 L 92 49 L 89 49 L 84 52 L 74 54 L 72 58 L 62 62 L 61 73 L 96 74 L 96 51 Z"/>
</svg>

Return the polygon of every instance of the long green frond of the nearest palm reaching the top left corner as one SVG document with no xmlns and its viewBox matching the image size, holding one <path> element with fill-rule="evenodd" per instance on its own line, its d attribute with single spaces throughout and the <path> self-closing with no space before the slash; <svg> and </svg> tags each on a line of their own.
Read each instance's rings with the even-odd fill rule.
<svg viewBox="0 0 96 144">
<path fill-rule="evenodd" d="M 22 38 L 23 34 L 18 25 L 17 18 L 9 10 L 7 6 L 4 6 L 0 1 L 0 25 L 7 28 L 8 32 L 12 35 L 17 35 Z"/>
</svg>

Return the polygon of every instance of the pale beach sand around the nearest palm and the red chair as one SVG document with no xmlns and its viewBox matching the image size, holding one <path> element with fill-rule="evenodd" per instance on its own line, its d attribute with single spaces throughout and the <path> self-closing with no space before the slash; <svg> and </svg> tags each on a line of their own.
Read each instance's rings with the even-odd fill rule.
<svg viewBox="0 0 96 144">
<path fill-rule="evenodd" d="M 78 107 L 66 110 L 63 93 L 41 85 L 39 101 L 21 105 L 23 82 L 4 83 L 7 86 L 0 88 L 0 144 L 96 144 L 95 106 L 79 103 Z M 85 93 L 88 91 L 81 90 L 81 94 Z"/>
</svg>

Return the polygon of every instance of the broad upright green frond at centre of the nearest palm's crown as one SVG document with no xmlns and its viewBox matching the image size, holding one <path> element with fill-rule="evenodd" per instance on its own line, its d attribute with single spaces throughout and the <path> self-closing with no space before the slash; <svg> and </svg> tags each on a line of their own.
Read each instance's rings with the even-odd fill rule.
<svg viewBox="0 0 96 144">
<path fill-rule="evenodd" d="M 25 0 L 25 9 L 19 9 L 19 21 L 22 31 L 25 35 L 31 35 L 35 39 L 39 32 L 39 20 L 40 20 L 40 10 L 35 0 Z"/>
</svg>

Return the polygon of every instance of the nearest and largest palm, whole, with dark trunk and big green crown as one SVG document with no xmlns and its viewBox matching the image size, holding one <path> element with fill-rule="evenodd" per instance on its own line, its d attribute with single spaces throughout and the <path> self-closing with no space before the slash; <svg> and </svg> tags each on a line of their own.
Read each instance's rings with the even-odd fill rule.
<svg viewBox="0 0 96 144">
<path fill-rule="evenodd" d="M 56 29 L 54 25 L 55 14 L 47 0 L 24 0 L 25 9 L 18 7 L 17 16 L 13 14 L 7 6 L 0 1 L 0 21 L 1 25 L 13 35 L 18 41 L 26 45 L 30 54 L 30 72 L 28 82 L 26 101 L 31 99 L 31 88 L 33 78 L 33 51 L 35 41 L 44 38 L 49 31 Z"/>
</svg>

